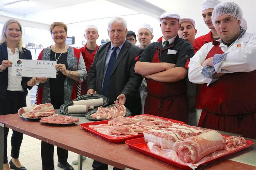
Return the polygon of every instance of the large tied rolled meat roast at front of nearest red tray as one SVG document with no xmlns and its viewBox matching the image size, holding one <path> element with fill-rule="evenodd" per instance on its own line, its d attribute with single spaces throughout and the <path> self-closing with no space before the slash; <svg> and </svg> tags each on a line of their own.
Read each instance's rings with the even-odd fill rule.
<svg viewBox="0 0 256 170">
<path fill-rule="evenodd" d="M 219 132 L 211 130 L 181 141 L 178 155 L 183 162 L 194 164 L 204 156 L 224 149 L 225 146 L 224 137 Z"/>
</svg>

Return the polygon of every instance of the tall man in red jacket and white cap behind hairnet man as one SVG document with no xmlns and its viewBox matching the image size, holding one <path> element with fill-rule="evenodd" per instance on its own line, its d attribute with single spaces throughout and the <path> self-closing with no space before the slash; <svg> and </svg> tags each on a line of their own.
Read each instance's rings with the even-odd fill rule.
<svg viewBox="0 0 256 170">
<path fill-rule="evenodd" d="M 195 53 L 205 44 L 208 42 L 212 42 L 214 40 L 218 40 L 219 36 L 212 25 L 211 22 L 211 14 L 212 11 L 214 10 L 215 6 L 220 3 L 219 0 L 204 0 L 201 5 L 202 9 L 202 16 L 204 19 L 205 24 L 207 27 L 210 29 L 210 32 L 207 33 L 204 36 L 200 36 L 197 39 L 195 39 L 195 42 L 193 43 L 193 47 L 195 50 Z"/>
</svg>

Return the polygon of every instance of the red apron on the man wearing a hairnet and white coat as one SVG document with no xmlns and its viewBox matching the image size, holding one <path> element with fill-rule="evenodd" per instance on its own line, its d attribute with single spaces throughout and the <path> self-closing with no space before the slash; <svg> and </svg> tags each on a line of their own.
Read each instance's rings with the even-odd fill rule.
<svg viewBox="0 0 256 170">
<path fill-rule="evenodd" d="M 224 52 L 216 44 L 207 58 Z M 202 84 L 199 127 L 243 134 L 256 139 L 256 70 L 228 73 L 209 87 Z"/>
</svg>

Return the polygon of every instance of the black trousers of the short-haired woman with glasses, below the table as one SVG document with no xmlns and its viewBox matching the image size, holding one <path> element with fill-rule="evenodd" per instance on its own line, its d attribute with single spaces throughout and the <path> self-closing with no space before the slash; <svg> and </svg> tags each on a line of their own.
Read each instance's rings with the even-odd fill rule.
<svg viewBox="0 0 256 170">
<path fill-rule="evenodd" d="M 42 158 L 42 170 L 53 170 L 53 152 L 54 145 L 47 142 L 41 142 L 41 158 Z M 65 163 L 68 160 L 69 151 L 63 148 L 57 147 L 58 162 Z"/>
</svg>

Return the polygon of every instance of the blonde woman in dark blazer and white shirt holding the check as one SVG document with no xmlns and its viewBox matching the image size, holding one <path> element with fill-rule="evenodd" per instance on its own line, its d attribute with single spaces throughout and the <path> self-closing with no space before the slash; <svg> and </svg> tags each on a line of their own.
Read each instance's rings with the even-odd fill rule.
<svg viewBox="0 0 256 170">
<path fill-rule="evenodd" d="M 22 48 L 22 27 L 19 21 L 9 19 L 3 25 L 0 39 L 0 115 L 17 113 L 26 107 L 27 88 L 36 84 L 35 77 L 12 76 L 12 63 L 19 59 L 32 59 L 31 52 Z M 12 130 L 10 166 L 7 159 L 7 136 L 9 128 L 4 128 L 3 170 L 26 170 L 19 161 L 23 134 Z M 2 165 L 0 165 L 2 166 Z M 2 169 L 0 167 L 0 169 Z"/>
</svg>

